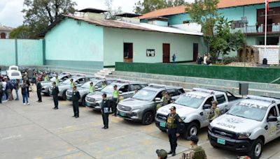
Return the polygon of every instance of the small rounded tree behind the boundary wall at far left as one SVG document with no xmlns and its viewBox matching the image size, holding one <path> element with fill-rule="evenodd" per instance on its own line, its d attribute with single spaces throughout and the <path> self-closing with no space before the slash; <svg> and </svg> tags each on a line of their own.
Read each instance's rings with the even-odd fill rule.
<svg viewBox="0 0 280 159">
<path fill-rule="evenodd" d="M 10 32 L 9 38 L 28 39 L 31 38 L 31 29 L 28 26 L 22 25 L 13 29 Z"/>
</svg>

